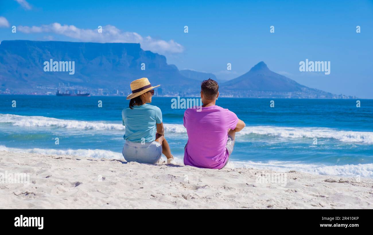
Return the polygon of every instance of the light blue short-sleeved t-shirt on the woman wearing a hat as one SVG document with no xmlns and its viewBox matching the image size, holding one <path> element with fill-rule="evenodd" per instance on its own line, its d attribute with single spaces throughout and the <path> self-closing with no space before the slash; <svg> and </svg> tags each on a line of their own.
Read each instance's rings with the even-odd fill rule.
<svg viewBox="0 0 373 235">
<path fill-rule="evenodd" d="M 126 127 L 123 138 L 130 142 L 153 142 L 156 140 L 157 125 L 162 123 L 162 112 L 150 104 L 135 105 L 122 110 L 122 122 Z"/>
</svg>

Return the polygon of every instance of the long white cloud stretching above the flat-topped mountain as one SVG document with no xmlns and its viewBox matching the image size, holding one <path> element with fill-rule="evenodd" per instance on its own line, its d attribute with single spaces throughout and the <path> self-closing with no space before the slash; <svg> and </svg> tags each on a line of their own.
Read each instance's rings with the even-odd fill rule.
<svg viewBox="0 0 373 235">
<path fill-rule="evenodd" d="M 80 29 L 74 25 L 61 25 L 60 23 L 52 23 L 50 25 L 41 26 L 18 26 L 18 31 L 29 33 L 54 33 L 64 35 L 69 38 L 77 39 L 82 42 L 127 42 L 140 43 L 141 48 L 159 53 L 181 53 L 184 47 L 173 40 L 164 41 L 153 39 L 150 36 L 142 37 L 136 32 L 123 32 L 112 25 L 106 25 L 102 28 L 102 33 L 98 33 L 97 29 Z"/>
</svg>

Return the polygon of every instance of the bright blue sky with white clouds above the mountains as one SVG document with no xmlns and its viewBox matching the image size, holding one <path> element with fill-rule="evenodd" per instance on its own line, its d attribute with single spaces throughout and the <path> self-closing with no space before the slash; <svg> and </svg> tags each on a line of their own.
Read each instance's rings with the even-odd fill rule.
<svg viewBox="0 0 373 235">
<path fill-rule="evenodd" d="M 96 38 L 99 25 L 105 34 Z M 235 78 L 264 61 L 311 88 L 373 98 L 372 0 L 0 0 L 0 40 L 13 39 L 140 42 L 179 69 L 220 79 Z M 305 59 L 330 61 L 330 74 L 300 72 Z"/>
</svg>

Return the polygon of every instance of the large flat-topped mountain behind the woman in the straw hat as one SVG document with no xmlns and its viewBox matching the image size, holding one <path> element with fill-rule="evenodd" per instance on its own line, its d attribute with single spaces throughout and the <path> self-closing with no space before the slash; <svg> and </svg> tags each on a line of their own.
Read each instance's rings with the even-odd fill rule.
<svg viewBox="0 0 373 235">
<path fill-rule="evenodd" d="M 74 61 L 74 74 L 45 72 L 44 62 L 51 59 Z M 130 82 L 141 77 L 148 77 L 155 85 L 162 84 L 163 90 L 176 92 L 180 88 L 187 91 L 191 84 L 176 66 L 167 64 L 166 57 L 144 51 L 140 44 L 23 40 L 0 44 L 0 83 L 10 90 L 69 83 L 130 92 Z"/>
</svg>

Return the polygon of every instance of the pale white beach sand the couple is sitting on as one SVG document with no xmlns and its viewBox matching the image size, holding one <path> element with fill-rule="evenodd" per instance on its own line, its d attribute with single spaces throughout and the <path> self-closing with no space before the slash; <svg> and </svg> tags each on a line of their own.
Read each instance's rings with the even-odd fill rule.
<svg viewBox="0 0 373 235">
<path fill-rule="evenodd" d="M 287 172 L 286 185 L 263 170 L 0 152 L 0 208 L 373 209 L 373 180 Z M 29 185 L 9 174 L 28 173 Z M 265 170 L 264 174 L 280 173 Z M 0 176 L 1 177 L 1 176 Z M 259 179 L 259 180 L 258 180 Z M 262 178 L 263 179 L 263 178 Z"/>
</svg>

